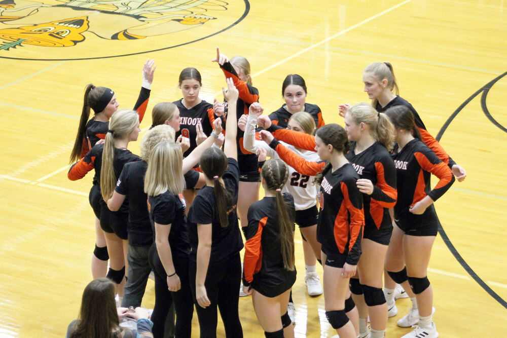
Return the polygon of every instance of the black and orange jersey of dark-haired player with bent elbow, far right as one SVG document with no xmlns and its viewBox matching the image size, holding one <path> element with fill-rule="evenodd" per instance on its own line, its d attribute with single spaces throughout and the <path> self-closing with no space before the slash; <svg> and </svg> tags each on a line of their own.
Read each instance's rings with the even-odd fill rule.
<svg viewBox="0 0 507 338">
<path fill-rule="evenodd" d="M 454 182 L 454 175 L 449 167 L 442 162 L 431 149 L 418 139 L 408 142 L 400 152 L 397 146 L 392 152 L 396 168 L 398 198 L 394 206 L 396 221 L 417 221 L 421 216 L 434 210 L 427 208 L 422 215 L 414 215 L 409 208 L 424 197 L 433 201 L 439 199 Z M 431 190 L 429 178 L 431 174 L 440 181 Z M 434 212 L 434 211 L 433 211 Z"/>
</svg>

